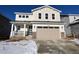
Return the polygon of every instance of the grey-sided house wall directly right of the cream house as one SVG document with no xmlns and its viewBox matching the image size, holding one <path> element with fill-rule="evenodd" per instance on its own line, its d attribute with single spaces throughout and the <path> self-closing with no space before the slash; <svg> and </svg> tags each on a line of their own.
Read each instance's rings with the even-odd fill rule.
<svg viewBox="0 0 79 59">
<path fill-rule="evenodd" d="M 69 15 L 61 14 L 60 17 L 61 17 L 61 21 L 64 22 L 64 30 L 65 30 L 66 36 L 72 36 L 71 28 L 69 27 L 69 24 L 70 24 Z"/>
</svg>

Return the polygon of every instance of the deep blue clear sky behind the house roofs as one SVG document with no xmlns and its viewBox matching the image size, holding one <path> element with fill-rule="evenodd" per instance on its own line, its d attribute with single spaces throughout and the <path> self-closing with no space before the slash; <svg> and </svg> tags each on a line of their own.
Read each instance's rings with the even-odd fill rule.
<svg viewBox="0 0 79 59">
<path fill-rule="evenodd" d="M 31 9 L 40 6 L 41 5 L 0 5 L 0 13 L 14 20 L 14 12 L 31 12 Z M 61 14 L 79 14 L 79 5 L 52 5 L 52 7 L 61 10 Z"/>
</svg>

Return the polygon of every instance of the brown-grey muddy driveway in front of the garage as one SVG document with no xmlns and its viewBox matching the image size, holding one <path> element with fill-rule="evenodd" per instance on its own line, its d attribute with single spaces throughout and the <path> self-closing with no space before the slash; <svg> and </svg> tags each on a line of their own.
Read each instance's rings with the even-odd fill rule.
<svg viewBox="0 0 79 59">
<path fill-rule="evenodd" d="M 79 46 L 72 41 L 36 41 L 39 54 L 78 54 Z"/>
</svg>

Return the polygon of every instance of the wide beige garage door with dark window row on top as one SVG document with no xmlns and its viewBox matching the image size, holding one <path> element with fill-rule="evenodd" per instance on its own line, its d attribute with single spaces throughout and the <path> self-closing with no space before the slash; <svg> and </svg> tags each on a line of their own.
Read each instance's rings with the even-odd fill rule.
<svg viewBox="0 0 79 59">
<path fill-rule="evenodd" d="M 60 38 L 59 27 L 37 27 L 37 40 L 53 40 Z"/>
</svg>

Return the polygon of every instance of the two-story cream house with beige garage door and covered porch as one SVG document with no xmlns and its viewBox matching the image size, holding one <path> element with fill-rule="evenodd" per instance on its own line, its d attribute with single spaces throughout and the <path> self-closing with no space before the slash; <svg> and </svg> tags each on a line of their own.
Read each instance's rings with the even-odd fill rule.
<svg viewBox="0 0 79 59">
<path fill-rule="evenodd" d="M 31 13 L 15 12 L 10 37 L 32 35 L 37 40 L 61 39 L 65 36 L 61 11 L 51 6 L 32 9 Z"/>
</svg>

